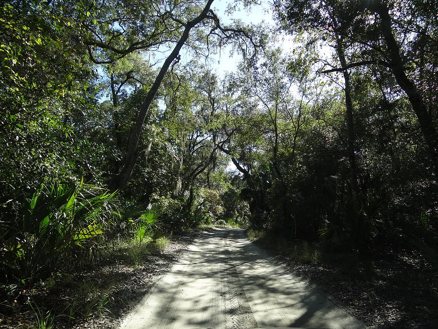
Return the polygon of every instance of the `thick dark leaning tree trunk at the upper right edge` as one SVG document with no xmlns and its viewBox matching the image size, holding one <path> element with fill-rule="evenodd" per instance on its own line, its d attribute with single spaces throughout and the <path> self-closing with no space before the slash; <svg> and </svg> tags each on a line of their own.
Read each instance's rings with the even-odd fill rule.
<svg viewBox="0 0 438 329">
<path fill-rule="evenodd" d="M 406 68 L 400 54 L 400 46 L 392 33 L 388 7 L 379 0 L 370 2 L 368 9 L 377 13 L 381 19 L 380 28 L 386 42 L 386 55 L 389 59 L 391 72 L 402 90 L 406 93 L 417 115 L 421 131 L 427 143 L 428 153 L 433 162 L 435 176 L 438 177 L 438 133 L 419 89 L 406 75 Z"/>
</svg>

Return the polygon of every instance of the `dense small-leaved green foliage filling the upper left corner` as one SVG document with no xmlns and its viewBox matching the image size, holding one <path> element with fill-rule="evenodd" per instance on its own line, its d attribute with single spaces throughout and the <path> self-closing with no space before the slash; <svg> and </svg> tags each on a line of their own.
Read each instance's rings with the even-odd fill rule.
<svg viewBox="0 0 438 329">
<path fill-rule="evenodd" d="M 95 109 L 94 90 L 73 40 L 84 31 L 61 8 L 47 1 L 1 5 L 0 181 L 9 194 L 37 188 L 41 177 L 89 174 L 97 160 L 77 171 L 78 155 L 92 148 L 75 138 L 73 118 Z"/>
</svg>

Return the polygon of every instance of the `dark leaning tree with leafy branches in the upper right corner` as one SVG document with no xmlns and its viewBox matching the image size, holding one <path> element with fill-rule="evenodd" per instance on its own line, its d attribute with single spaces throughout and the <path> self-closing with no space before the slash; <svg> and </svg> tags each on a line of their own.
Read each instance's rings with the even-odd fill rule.
<svg viewBox="0 0 438 329">
<path fill-rule="evenodd" d="M 434 164 L 434 172 L 438 174 L 437 145 L 438 135 L 434 118 L 430 109 L 434 109 L 433 102 L 426 104 L 426 93 L 420 91 L 420 84 L 424 83 L 418 75 L 421 72 L 422 79 L 431 77 L 435 72 L 433 62 L 436 58 L 427 54 L 428 50 L 434 49 L 436 44 L 434 15 L 430 11 L 433 5 L 418 1 L 358 1 L 345 4 L 343 1 L 276 1 L 277 13 L 280 21 L 300 22 L 299 29 L 311 29 L 311 24 L 319 30 L 329 28 L 332 34 L 355 45 L 354 60 L 346 62 L 344 66 L 334 67 L 329 70 L 321 70 L 322 73 L 347 72 L 355 67 L 374 66 L 383 72 L 389 69 L 397 83 L 406 93 L 411 106 L 420 123 L 420 129 L 424 135 L 429 156 Z M 398 16 L 398 22 L 391 18 Z M 337 24 L 333 24 L 337 21 Z M 331 22 L 331 23 L 330 23 Z M 286 25 L 284 25 L 286 28 Z M 294 25 L 292 25 L 294 26 Z M 290 27 L 286 28 L 292 31 Z M 394 35 L 396 29 L 400 38 Z M 399 39 L 399 40 L 397 40 Z M 413 46 L 407 44 L 407 40 L 413 40 Z M 404 43 L 404 44 L 403 44 Z M 419 43 L 422 46 L 419 46 Z M 420 49 L 418 49 L 420 47 Z M 414 49 L 417 48 L 417 51 Z M 407 51 L 402 51 L 407 49 Z M 420 55 L 422 63 L 415 63 L 415 55 Z M 426 64 L 429 61 L 430 65 Z M 408 70 L 408 67 L 414 68 Z M 431 68 L 430 70 L 425 67 Z M 417 68 L 417 72 L 416 69 Z M 408 72 L 409 71 L 409 72 Z M 426 73 L 427 72 L 427 73 Z M 410 76 L 410 77 L 409 77 Z M 417 81 L 415 81 L 417 79 Z M 431 80 L 428 83 L 433 84 Z M 427 99 L 430 99 L 428 97 Z"/>
</svg>

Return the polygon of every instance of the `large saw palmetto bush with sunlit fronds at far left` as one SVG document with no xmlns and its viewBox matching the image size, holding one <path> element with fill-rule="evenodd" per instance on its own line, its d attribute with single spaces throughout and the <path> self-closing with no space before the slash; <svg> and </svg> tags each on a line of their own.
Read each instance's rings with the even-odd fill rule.
<svg viewBox="0 0 438 329">
<path fill-rule="evenodd" d="M 83 181 L 43 184 L 0 223 L 6 279 L 33 282 L 90 257 L 119 218 L 115 203 L 115 193 Z"/>
</svg>

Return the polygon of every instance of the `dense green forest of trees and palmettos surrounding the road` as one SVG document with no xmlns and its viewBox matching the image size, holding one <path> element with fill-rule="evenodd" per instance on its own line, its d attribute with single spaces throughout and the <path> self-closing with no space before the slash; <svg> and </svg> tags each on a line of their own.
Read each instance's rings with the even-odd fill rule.
<svg viewBox="0 0 438 329">
<path fill-rule="evenodd" d="M 1 3 L 4 314 L 200 225 L 348 252 L 371 276 L 407 252 L 437 303 L 437 3 L 264 1 L 273 27 L 223 23 L 219 1 Z"/>
</svg>

